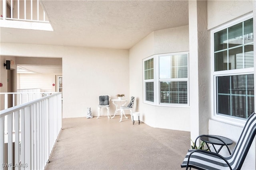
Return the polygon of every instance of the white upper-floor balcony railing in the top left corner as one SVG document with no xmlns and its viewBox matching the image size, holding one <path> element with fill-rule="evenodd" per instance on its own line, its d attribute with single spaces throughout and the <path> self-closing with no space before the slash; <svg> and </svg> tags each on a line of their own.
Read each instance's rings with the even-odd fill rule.
<svg viewBox="0 0 256 170">
<path fill-rule="evenodd" d="M 1 0 L 3 20 L 49 22 L 39 0 Z"/>
</svg>

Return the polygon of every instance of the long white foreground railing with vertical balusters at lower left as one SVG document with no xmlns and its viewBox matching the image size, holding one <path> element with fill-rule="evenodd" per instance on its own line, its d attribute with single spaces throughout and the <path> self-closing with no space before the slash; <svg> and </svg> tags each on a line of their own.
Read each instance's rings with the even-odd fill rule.
<svg viewBox="0 0 256 170">
<path fill-rule="evenodd" d="M 2 169 L 44 169 L 62 127 L 61 100 L 56 93 L 0 111 Z"/>
</svg>

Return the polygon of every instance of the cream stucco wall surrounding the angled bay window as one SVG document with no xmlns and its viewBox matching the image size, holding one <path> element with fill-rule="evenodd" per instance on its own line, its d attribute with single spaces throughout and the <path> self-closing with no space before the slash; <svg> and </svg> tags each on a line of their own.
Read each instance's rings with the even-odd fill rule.
<svg viewBox="0 0 256 170">
<path fill-rule="evenodd" d="M 190 131 L 189 107 L 162 107 L 143 102 L 143 59 L 154 54 L 189 50 L 188 25 L 154 31 L 130 49 L 130 95 L 136 96 L 134 111 L 152 127 Z"/>
</svg>

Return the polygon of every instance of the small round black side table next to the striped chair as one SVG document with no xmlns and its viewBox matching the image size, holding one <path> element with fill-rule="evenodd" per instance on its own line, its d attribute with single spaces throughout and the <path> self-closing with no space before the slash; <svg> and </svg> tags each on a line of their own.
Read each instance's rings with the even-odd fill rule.
<svg viewBox="0 0 256 170">
<path fill-rule="evenodd" d="M 228 148 L 228 145 L 232 145 L 233 141 L 231 141 L 230 139 L 228 139 L 226 137 L 217 136 L 217 135 L 200 135 L 200 140 L 204 141 L 206 143 L 206 146 L 208 147 L 209 150 L 210 150 L 210 147 L 208 144 L 212 144 L 212 146 L 217 154 L 220 152 L 220 150 L 224 146 L 227 147 L 229 154 L 231 154 L 231 152 Z M 221 146 L 218 150 L 216 150 L 214 145 L 221 145 Z"/>
</svg>

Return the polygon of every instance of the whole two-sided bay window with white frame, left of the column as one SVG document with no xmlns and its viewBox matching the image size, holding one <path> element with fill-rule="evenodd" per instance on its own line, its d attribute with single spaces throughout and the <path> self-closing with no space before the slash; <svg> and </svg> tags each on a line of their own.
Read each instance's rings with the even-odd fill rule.
<svg viewBox="0 0 256 170">
<path fill-rule="evenodd" d="M 144 102 L 188 106 L 188 53 L 154 55 L 144 60 Z"/>
</svg>

